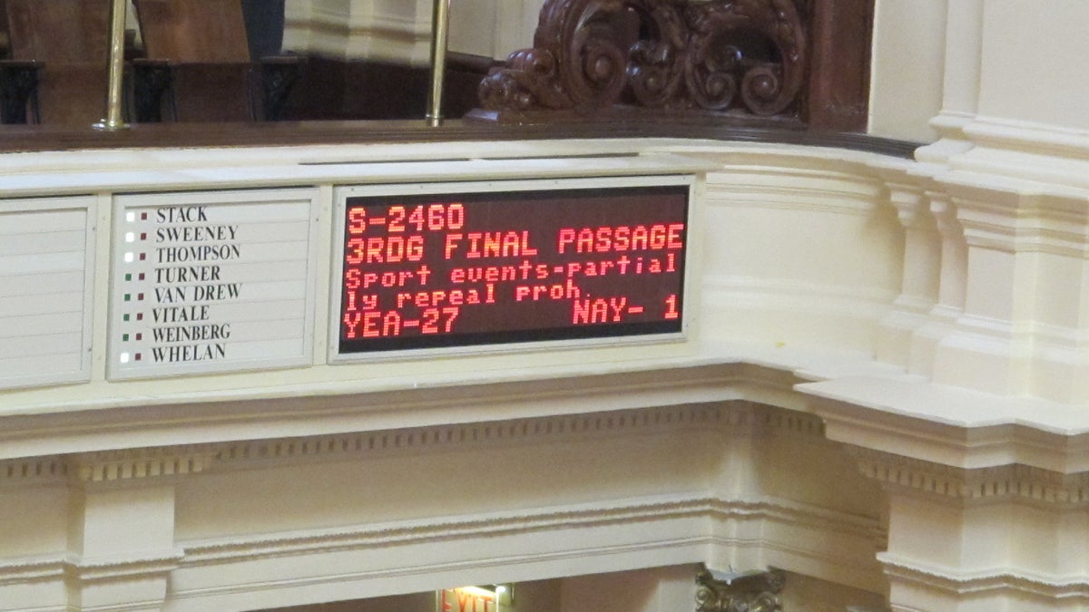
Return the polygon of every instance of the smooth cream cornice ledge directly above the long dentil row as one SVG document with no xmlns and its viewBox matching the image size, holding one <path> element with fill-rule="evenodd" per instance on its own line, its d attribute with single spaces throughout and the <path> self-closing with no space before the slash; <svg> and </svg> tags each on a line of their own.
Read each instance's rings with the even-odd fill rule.
<svg viewBox="0 0 1089 612">
<path fill-rule="evenodd" d="M 588 406 L 604 413 L 738 400 L 796 404 L 791 390 L 797 377 L 771 366 L 701 360 L 621 372 L 610 372 L 609 367 L 586 372 L 584 366 L 580 376 L 546 372 L 531 379 L 518 378 L 517 371 L 502 379 L 485 372 L 479 380 L 460 377 L 411 388 L 390 381 L 378 389 L 370 384 L 369 390 L 365 382 L 345 380 L 272 388 L 259 396 L 205 393 L 176 403 L 159 397 L 149 405 L 134 399 L 125 405 L 10 415 L 3 417 L 0 453 L 41 456 L 142 449 L 162 440 L 199 446 L 232 440 L 355 434 L 577 415 Z M 97 458 L 108 460 L 105 455 Z"/>
</svg>

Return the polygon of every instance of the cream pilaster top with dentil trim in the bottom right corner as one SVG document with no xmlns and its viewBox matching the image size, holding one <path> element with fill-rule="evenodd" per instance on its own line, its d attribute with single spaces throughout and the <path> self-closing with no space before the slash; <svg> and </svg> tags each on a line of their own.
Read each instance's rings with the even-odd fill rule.
<svg viewBox="0 0 1089 612">
<path fill-rule="evenodd" d="M 894 611 L 1074 611 L 1089 604 L 1089 473 L 976 469 L 851 448 L 890 498 L 878 559 Z"/>
</svg>

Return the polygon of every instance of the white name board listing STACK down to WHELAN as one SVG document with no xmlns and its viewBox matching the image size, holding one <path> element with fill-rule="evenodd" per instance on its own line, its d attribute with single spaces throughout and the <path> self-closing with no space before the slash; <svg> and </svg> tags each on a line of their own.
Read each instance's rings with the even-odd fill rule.
<svg viewBox="0 0 1089 612">
<path fill-rule="evenodd" d="M 115 198 L 112 379 L 313 363 L 317 192 Z"/>
</svg>

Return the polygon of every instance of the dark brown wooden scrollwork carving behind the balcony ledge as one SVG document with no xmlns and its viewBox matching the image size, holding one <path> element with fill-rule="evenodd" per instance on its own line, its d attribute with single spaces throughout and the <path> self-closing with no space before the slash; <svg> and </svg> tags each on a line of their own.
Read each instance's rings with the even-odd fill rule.
<svg viewBox="0 0 1089 612">
<path fill-rule="evenodd" d="M 492 111 L 594 114 L 616 105 L 797 115 L 797 0 L 549 0 L 534 48 L 480 84 Z"/>
</svg>

